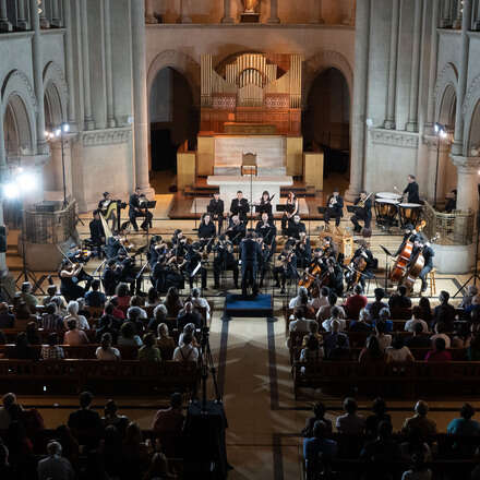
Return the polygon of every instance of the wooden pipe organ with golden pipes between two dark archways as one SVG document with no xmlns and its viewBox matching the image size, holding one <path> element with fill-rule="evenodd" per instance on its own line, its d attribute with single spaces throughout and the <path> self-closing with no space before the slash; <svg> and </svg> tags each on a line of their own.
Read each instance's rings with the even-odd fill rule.
<svg viewBox="0 0 480 480">
<path fill-rule="evenodd" d="M 299 134 L 302 57 L 241 53 L 214 69 L 202 56 L 203 132 L 225 133 L 226 123 L 271 125 L 280 134 Z"/>
</svg>

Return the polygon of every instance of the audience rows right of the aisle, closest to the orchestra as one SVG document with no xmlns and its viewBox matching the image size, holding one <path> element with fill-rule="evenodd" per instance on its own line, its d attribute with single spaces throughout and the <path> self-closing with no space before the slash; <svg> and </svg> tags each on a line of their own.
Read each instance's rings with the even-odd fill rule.
<svg viewBox="0 0 480 480">
<path fill-rule="evenodd" d="M 461 349 L 461 355 L 455 359 L 478 360 L 480 296 L 473 288 L 468 289 L 459 309 L 449 303 L 446 291 L 440 293 L 439 305 L 432 309 L 427 297 L 412 307 L 403 286 L 387 302 L 385 291 L 376 288 L 375 300 L 369 302 L 361 286 L 356 285 L 353 295 L 343 304 L 327 287 L 323 287 L 320 296 L 312 300 L 300 287 L 299 295 L 289 303 L 292 314 L 287 320 L 287 346 L 291 359 L 302 362 L 403 363 L 416 359 L 445 362 L 453 359 L 452 349 Z M 394 320 L 406 313 L 409 320 Z M 361 349 L 358 348 L 359 341 Z M 352 345 L 355 343 L 357 345 Z M 415 357 L 411 350 L 421 358 Z"/>
</svg>

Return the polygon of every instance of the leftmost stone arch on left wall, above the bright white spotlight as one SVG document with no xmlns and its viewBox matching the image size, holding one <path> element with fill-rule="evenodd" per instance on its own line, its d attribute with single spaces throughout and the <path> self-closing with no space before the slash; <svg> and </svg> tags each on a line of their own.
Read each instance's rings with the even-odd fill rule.
<svg viewBox="0 0 480 480">
<path fill-rule="evenodd" d="M 15 122 L 19 145 L 32 155 L 37 141 L 35 116 L 38 101 L 28 77 L 20 70 L 12 70 L 3 81 L 0 93 L 0 115 L 4 118 L 7 109 L 10 110 Z"/>
</svg>

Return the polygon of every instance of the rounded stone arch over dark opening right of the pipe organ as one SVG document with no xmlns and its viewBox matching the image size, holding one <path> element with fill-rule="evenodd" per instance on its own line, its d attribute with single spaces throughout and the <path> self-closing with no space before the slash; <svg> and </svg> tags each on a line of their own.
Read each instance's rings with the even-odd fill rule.
<svg viewBox="0 0 480 480">
<path fill-rule="evenodd" d="M 303 100 L 308 97 L 316 76 L 331 68 L 337 69 L 343 73 L 348 84 L 350 101 L 353 100 L 353 71 L 347 58 L 334 50 L 322 50 L 303 62 Z"/>
</svg>

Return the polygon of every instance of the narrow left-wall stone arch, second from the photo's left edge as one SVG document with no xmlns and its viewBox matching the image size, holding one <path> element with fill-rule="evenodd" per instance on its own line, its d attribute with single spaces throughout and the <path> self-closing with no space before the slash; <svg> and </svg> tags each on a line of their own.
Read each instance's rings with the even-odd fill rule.
<svg viewBox="0 0 480 480">
<path fill-rule="evenodd" d="M 50 61 L 45 65 L 43 77 L 45 104 L 48 107 L 50 121 L 52 125 L 58 125 L 67 121 L 69 87 L 61 67 L 55 61 Z"/>
</svg>

